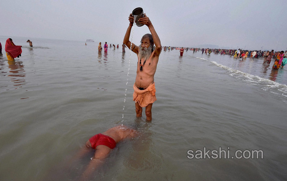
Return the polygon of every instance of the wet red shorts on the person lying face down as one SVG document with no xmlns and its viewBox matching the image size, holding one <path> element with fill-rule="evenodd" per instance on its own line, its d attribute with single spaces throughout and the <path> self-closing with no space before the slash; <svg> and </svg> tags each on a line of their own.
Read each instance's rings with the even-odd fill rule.
<svg viewBox="0 0 287 181">
<path fill-rule="evenodd" d="M 113 149 L 114 147 L 116 147 L 116 142 L 114 141 L 113 138 L 107 136 L 107 135 L 103 135 L 101 133 L 92 136 L 89 139 L 90 143 L 92 144 L 92 148 L 96 149 L 96 147 L 98 145 L 105 145 L 111 149 Z"/>
</svg>

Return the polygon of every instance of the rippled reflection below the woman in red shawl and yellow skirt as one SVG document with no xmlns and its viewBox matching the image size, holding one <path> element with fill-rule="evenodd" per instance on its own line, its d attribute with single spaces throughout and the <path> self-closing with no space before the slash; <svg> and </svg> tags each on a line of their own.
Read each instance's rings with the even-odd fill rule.
<svg viewBox="0 0 287 181">
<path fill-rule="evenodd" d="M 24 71 L 24 65 L 22 64 L 23 62 L 20 61 L 8 61 L 8 68 L 10 68 L 10 75 L 8 75 L 8 77 L 17 77 L 17 78 L 11 78 L 11 81 L 14 82 L 14 86 L 21 86 L 24 85 L 23 82 L 25 82 L 25 80 L 23 78 L 19 78 L 19 77 L 26 77 L 26 74 L 23 74 Z M 21 86 L 22 87 L 22 86 Z M 17 88 L 15 88 L 17 89 Z"/>
</svg>

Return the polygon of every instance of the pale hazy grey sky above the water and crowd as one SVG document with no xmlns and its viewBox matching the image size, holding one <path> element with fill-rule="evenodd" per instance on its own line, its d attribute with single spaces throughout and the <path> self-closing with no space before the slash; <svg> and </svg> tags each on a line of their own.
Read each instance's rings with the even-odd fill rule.
<svg viewBox="0 0 287 181">
<path fill-rule="evenodd" d="M 5 1 L 0 6 L 0 35 L 58 40 L 94 39 L 121 45 L 128 16 L 141 7 L 162 46 L 252 50 L 287 49 L 285 0 L 221 1 Z M 134 27 L 132 42 L 150 33 Z M 131 40 L 131 37 L 130 37 Z M 4 42 L 2 42 L 3 45 Z M 208 48 L 208 47 L 201 47 Z"/>
</svg>

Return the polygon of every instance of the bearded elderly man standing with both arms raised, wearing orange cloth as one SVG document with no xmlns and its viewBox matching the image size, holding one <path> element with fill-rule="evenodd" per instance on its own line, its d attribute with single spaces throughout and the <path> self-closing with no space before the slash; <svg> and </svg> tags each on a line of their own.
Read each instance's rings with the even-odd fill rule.
<svg viewBox="0 0 287 181">
<path fill-rule="evenodd" d="M 130 24 L 124 36 L 123 43 L 127 45 L 131 51 L 135 52 L 138 58 L 137 76 L 134 83 L 133 94 L 137 117 L 142 116 L 143 107 L 145 107 L 147 120 L 150 121 L 152 119 L 151 108 L 153 106 L 153 102 L 156 101 L 154 74 L 156 73 L 156 66 L 161 52 L 161 43 L 150 19 L 146 14 L 144 15 L 145 17 L 140 18 L 138 21 L 141 24 L 147 25 L 151 34 L 143 35 L 140 41 L 140 46 L 136 46 L 134 43 L 131 44 L 129 37 L 131 34 L 131 28 L 134 24 L 134 17 L 130 14 Z M 153 45 L 156 46 L 155 49 L 153 49 Z"/>
</svg>

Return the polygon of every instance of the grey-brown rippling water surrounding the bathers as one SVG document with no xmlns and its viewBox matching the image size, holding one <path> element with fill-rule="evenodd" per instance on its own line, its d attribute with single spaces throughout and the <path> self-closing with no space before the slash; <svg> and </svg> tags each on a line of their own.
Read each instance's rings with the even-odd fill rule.
<svg viewBox="0 0 287 181">
<path fill-rule="evenodd" d="M 6 39 L 0 37 L 2 52 Z M 141 134 L 119 143 L 92 180 L 287 179 L 286 68 L 271 71 L 262 59 L 162 52 L 147 122 L 135 116 L 134 53 L 126 86 L 128 49 L 98 54 L 98 42 L 34 39 L 29 47 L 27 39 L 13 38 L 23 46 L 14 63 L 0 55 L 0 180 L 78 180 L 93 151 L 69 160 L 92 135 L 121 124 L 123 113 L 123 124 Z M 188 150 L 204 147 L 229 147 L 231 156 L 263 150 L 264 157 L 187 158 Z"/>
</svg>

